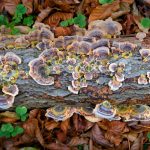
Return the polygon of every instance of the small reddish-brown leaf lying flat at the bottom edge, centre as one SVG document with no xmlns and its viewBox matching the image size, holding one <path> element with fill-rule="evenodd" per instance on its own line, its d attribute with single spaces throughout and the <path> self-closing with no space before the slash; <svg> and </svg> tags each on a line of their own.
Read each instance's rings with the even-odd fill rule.
<svg viewBox="0 0 150 150">
<path fill-rule="evenodd" d="M 82 144 L 88 144 L 88 141 L 88 138 L 73 137 L 67 145 L 78 146 Z"/>
</svg>

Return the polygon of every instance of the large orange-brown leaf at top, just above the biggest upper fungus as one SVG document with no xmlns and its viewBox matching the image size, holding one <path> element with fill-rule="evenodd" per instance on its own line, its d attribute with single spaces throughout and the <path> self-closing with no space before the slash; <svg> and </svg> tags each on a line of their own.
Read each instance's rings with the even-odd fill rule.
<svg viewBox="0 0 150 150">
<path fill-rule="evenodd" d="M 93 11 L 91 12 L 89 16 L 88 22 L 94 21 L 94 20 L 102 20 L 110 17 L 113 12 L 116 12 L 120 8 L 120 1 L 116 0 L 111 4 L 105 4 L 105 5 L 98 5 Z"/>
</svg>

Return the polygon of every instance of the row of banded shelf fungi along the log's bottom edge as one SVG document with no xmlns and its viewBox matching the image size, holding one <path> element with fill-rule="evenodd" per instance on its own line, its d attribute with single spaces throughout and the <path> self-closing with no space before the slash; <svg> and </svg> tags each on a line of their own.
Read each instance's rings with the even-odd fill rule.
<svg viewBox="0 0 150 150">
<path fill-rule="evenodd" d="M 146 105 L 118 105 L 113 106 L 108 101 L 97 104 L 95 108 L 90 106 L 56 105 L 47 109 L 45 114 L 55 121 L 64 121 L 74 113 L 80 114 L 90 122 L 98 122 L 102 119 L 128 121 L 150 121 L 150 107 Z"/>
</svg>

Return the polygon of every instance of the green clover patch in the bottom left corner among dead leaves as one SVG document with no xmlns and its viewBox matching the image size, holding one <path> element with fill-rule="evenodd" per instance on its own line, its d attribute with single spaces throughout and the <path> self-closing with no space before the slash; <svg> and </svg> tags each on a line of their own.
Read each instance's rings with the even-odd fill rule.
<svg viewBox="0 0 150 150">
<path fill-rule="evenodd" d="M 11 123 L 2 124 L 0 128 L 0 137 L 15 137 L 18 134 L 22 134 L 24 132 L 24 129 L 19 126 L 13 127 Z"/>
</svg>

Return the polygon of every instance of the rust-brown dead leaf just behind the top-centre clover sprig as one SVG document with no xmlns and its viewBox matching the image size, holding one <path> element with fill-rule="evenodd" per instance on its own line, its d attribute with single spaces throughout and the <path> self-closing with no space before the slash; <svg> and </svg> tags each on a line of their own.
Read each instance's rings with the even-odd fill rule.
<svg viewBox="0 0 150 150">
<path fill-rule="evenodd" d="M 59 25 L 59 22 L 62 20 L 67 20 L 73 17 L 73 13 L 64 13 L 64 12 L 56 12 L 48 17 L 44 23 L 48 24 L 51 27 L 56 27 Z"/>
</svg>

